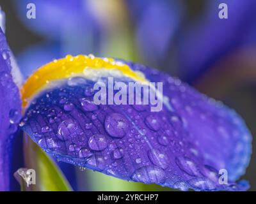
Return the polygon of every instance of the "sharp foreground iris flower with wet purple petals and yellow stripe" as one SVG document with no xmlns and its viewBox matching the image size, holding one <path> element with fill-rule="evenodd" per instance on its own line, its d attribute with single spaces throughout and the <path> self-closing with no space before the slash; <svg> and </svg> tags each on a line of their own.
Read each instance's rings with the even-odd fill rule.
<svg viewBox="0 0 256 204">
<path fill-rule="evenodd" d="M 19 92 L 3 31 L 0 51 L 2 191 L 10 189 L 12 135 L 18 128 L 59 161 L 119 179 L 183 191 L 249 188 L 246 181 L 236 182 L 252 151 L 243 119 L 179 79 L 133 62 L 67 55 L 35 71 Z M 125 83 L 163 82 L 163 110 L 95 105 L 93 85 L 109 76 Z M 227 170 L 228 184 L 220 183 L 220 169 Z"/>
</svg>

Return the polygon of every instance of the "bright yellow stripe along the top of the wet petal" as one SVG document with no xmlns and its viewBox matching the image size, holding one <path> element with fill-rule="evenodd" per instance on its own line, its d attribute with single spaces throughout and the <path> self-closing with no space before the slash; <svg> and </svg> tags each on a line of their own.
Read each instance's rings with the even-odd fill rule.
<svg viewBox="0 0 256 204">
<path fill-rule="evenodd" d="M 22 106 L 26 107 L 28 100 L 35 96 L 40 90 L 44 89 L 52 80 L 60 80 L 83 74 L 86 68 L 118 69 L 122 71 L 126 77 L 130 77 L 138 82 L 147 82 L 147 80 L 136 73 L 136 71 L 132 71 L 127 64 L 116 62 L 114 59 L 102 59 L 94 57 L 93 55 L 77 55 L 76 57 L 67 55 L 65 58 L 54 60 L 42 66 L 28 78 L 21 89 Z"/>
</svg>

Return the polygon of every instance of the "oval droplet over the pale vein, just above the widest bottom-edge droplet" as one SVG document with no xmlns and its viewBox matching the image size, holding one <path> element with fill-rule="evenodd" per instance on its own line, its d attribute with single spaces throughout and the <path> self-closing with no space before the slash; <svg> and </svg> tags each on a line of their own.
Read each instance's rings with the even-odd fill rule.
<svg viewBox="0 0 256 204">
<path fill-rule="evenodd" d="M 169 159 L 168 156 L 158 149 L 152 149 L 148 151 L 148 157 L 150 161 L 152 161 L 153 164 L 156 166 L 159 166 L 163 169 L 168 167 Z"/>
</svg>

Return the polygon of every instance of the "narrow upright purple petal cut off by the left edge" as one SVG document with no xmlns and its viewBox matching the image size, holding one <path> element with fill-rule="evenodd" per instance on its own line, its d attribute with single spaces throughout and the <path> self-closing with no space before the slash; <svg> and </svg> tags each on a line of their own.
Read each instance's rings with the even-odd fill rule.
<svg viewBox="0 0 256 204">
<path fill-rule="evenodd" d="M 0 191 L 10 188 L 10 150 L 21 119 L 19 89 L 11 75 L 10 49 L 0 29 Z"/>
</svg>

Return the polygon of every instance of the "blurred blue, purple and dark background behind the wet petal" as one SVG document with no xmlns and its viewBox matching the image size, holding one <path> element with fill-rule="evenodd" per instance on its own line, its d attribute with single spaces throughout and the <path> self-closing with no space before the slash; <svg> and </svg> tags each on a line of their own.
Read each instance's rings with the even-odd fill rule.
<svg viewBox="0 0 256 204">
<path fill-rule="evenodd" d="M 256 1 L 223 2 L 228 19 L 218 17 L 218 0 L 1 0 L 0 6 L 8 42 L 25 77 L 67 54 L 141 62 L 234 108 L 254 136 Z M 36 5 L 36 20 L 26 18 L 28 3 Z M 256 190 L 255 173 L 253 149 L 242 178 L 250 181 L 251 191 Z M 97 177 L 102 183 L 92 189 L 104 190 L 105 176 Z M 108 184 L 106 189 L 115 190 Z"/>
</svg>

